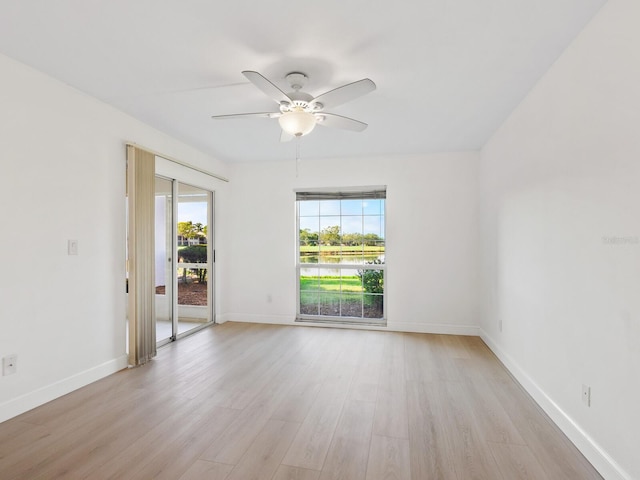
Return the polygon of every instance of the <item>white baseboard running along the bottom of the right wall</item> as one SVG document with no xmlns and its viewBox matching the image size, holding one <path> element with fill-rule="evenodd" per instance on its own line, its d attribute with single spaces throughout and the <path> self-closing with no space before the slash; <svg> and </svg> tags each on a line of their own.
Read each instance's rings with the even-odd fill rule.
<svg viewBox="0 0 640 480">
<path fill-rule="evenodd" d="M 479 332 L 480 338 L 600 475 L 607 480 L 633 480 L 483 329 Z"/>
</svg>

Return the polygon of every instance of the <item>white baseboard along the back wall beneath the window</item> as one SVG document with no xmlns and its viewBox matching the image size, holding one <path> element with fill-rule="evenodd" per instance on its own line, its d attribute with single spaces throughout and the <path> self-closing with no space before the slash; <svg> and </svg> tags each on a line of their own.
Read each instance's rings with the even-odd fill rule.
<svg viewBox="0 0 640 480">
<path fill-rule="evenodd" d="M 387 332 L 408 332 L 408 333 L 435 333 L 443 335 L 471 335 L 479 336 L 480 329 L 473 325 L 447 325 L 434 323 L 415 322 L 388 322 L 386 326 L 358 325 L 324 322 L 296 322 L 295 316 L 291 315 L 262 315 L 254 313 L 226 313 L 217 317 L 218 323 L 224 322 L 246 322 L 246 323 L 269 323 L 273 325 L 300 325 L 306 327 L 331 327 L 350 328 L 359 330 L 379 330 Z"/>
</svg>

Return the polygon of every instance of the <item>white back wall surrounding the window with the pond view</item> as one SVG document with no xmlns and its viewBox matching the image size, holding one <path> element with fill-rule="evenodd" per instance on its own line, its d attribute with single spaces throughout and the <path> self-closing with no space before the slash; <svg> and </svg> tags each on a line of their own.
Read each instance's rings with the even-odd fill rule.
<svg viewBox="0 0 640 480">
<path fill-rule="evenodd" d="M 233 168 L 228 320 L 292 323 L 295 188 L 387 185 L 388 329 L 477 333 L 477 153 Z M 272 301 L 269 302 L 268 298 Z"/>
</svg>

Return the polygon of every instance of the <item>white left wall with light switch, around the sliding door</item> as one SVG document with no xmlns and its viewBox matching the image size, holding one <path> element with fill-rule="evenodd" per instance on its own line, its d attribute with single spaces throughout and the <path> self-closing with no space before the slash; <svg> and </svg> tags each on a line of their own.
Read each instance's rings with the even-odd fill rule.
<svg viewBox="0 0 640 480">
<path fill-rule="evenodd" d="M 5 56 L 0 79 L 2 421 L 126 365 L 125 142 L 226 167 Z"/>
</svg>

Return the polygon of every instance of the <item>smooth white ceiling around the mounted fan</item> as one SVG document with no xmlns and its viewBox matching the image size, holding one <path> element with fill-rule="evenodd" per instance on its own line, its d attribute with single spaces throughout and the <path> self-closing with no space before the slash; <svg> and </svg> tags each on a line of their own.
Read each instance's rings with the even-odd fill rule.
<svg viewBox="0 0 640 480">
<path fill-rule="evenodd" d="M 225 161 L 290 159 L 240 73 L 312 95 L 361 78 L 306 158 L 480 148 L 605 0 L 0 0 L 0 52 Z M 1 83 L 1 80 L 0 80 Z"/>
</svg>

